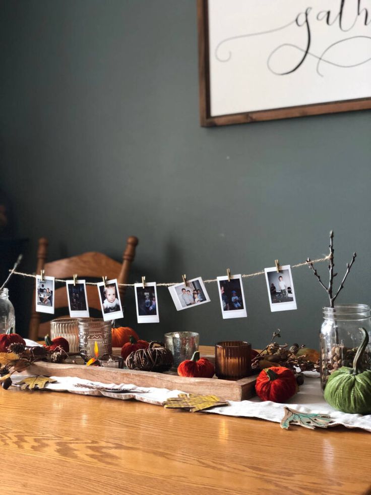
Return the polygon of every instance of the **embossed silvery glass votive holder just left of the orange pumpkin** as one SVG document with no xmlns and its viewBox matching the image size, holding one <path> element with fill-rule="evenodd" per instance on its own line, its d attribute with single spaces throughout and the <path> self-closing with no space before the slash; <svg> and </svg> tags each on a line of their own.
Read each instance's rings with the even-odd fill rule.
<svg viewBox="0 0 371 495">
<path fill-rule="evenodd" d="M 98 345 L 98 355 L 112 353 L 111 321 L 100 318 L 86 318 L 79 320 L 79 353 L 87 362 L 95 356 L 95 342 Z"/>
</svg>

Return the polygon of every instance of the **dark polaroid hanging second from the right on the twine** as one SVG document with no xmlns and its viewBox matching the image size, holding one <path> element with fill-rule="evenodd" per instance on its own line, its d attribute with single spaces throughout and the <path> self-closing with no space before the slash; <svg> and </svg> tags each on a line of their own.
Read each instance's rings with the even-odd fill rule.
<svg viewBox="0 0 371 495">
<path fill-rule="evenodd" d="M 220 306 L 224 319 L 244 318 L 248 315 L 246 311 L 245 297 L 243 294 L 242 277 L 231 275 L 228 277 L 217 277 Z"/>
</svg>

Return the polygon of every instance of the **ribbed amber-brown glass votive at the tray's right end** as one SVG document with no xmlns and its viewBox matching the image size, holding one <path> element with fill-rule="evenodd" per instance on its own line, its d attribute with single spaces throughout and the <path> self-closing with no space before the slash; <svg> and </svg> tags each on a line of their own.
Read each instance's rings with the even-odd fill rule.
<svg viewBox="0 0 371 495">
<path fill-rule="evenodd" d="M 251 344 L 243 341 L 215 344 L 215 374 L 225 380 L 251 375 Z"/>
</svg>

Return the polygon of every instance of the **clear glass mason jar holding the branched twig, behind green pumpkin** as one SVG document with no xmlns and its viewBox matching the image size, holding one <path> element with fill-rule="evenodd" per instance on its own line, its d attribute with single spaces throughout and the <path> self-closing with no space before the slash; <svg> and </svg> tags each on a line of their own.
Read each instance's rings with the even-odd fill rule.
<svg viewBox="0 0 371 495">
<path fill-rule="evenodd" d="M 342 366 L 352 367 L 353 359 L 363 340 L 365 328 L 370 337 L 360 365 L 371 369 L 371 316 L 367 304 L 339 304 L 323 308 L 320 333 L 321 385 L 324 390 L 328 377 Z"/>
</svg>

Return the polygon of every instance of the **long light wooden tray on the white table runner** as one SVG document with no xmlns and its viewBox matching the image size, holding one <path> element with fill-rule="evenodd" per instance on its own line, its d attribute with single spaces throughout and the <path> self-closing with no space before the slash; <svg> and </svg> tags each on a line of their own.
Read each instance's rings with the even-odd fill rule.
<svg viewBox="0 0 371 495">
<path fill-rule="evenodd" d="M 119 355 L 120 349 L 113 349 Z M 201 349 L 202 353 L 202 349 Z M 205 355 L 214 360 L 214 356 Z M 82 361 L 82 360 L 81 360 Z M 229 401 L 243 401 L 255 395 L 256 375 L 241 378 L 237 381 L 214 378 L 188 378 L 178 376 L 175 372 L 155 373 L 153 371 L 137 371 L 131 369 L 106 368 L 101 366 L 85 366 L 84 364 L 54 364 L 37 361 L 24 373 L 49 376 L 76 376 L 103 383 L 133 383 L 138 387 L 157 387 L 159 389 L 181 390 L 192 394 L 215 394 Z"/>
</svg>

